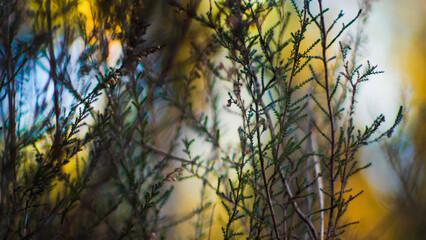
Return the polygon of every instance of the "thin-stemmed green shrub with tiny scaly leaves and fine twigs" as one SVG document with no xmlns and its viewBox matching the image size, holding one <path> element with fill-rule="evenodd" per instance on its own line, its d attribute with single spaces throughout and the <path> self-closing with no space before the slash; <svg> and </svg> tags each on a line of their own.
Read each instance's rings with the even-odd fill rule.
<svg viewBox="0 0 426 240">
<path fill-rule="evenodd" d="M 383 115 L 353 123 L 359 85 L 380 71 L 357 63 L 361 31 L 339 39 L 368 11 L 335 31 L 343 14 L 326 25 L 321 0 L 216 1 L 205 14 L 200 1 L 99 0 L 90 30 L 75 1 L 23 3 L 1 3 L 2 238 L 165 239 L 195 220 L 204 239 L 220 209 L 224 239 L 335 239 L 354 224 L 342 217 L 362 192 L 347 184 L 368 166 L 355 153 L 402 118 L 383 133 Z M 200 32 L 212 35 L 189 37 Z M 227 111 L 239 116 L 234 146 L 221 139 Z M 200 206 L 164 212 L 172 183 L 189 178 Z"/>
</svg>

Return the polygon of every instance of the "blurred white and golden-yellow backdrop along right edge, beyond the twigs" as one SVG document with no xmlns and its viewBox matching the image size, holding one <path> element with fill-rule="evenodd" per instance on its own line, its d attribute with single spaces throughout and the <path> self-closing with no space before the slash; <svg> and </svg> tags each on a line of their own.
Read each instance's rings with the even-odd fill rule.
<svg viewBox="0 0 426 240">
<path fill-rule="evenodd" d="M 350 12 L 356 1 L 334 1 Z M 426 2 L 371 1 L 364 57 L 384 73 L 367 82 L 359 98 L 359 124 L 382 112 L 392 119 L 404 105 L 399 135 L 359 155 L 372 167 L 353 179 L 364 196 L 354 201 L 352 219 L 360 224 L 348 236 L 356 239 L 423 239 L 425 235 L 426 134 Z M 391 121 L 389 121 L 391 122 Z M 390 124 L 390 123 L 389 123 Z M 365 188 L 364 188 L 365 189 Z"/>
</svg>

